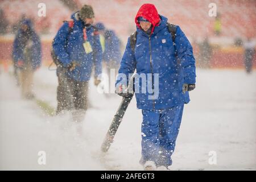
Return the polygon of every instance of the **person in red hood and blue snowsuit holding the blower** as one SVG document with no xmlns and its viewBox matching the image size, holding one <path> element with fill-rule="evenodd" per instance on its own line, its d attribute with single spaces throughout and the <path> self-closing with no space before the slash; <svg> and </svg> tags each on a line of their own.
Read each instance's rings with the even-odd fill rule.
<svg viewBox="0 0 256 182">
<path fill-rule="evenodd" d="M 136 69 L 135 96 L 143 115 L 140 163 L 146 170 L 170 169 L 183 107 L 189 102 L 188 91 L 195 88 L 195 58 L 179 26 L 173 42 L 167 18 L 159 15 L 154 5 L 142 5 L 135 23 L 136 44 L 133 49 L 130 36 L 119 68 L 116 92 L 123 97 L 131 94 L 127 92 L 127 78 Z"/>
</svg>

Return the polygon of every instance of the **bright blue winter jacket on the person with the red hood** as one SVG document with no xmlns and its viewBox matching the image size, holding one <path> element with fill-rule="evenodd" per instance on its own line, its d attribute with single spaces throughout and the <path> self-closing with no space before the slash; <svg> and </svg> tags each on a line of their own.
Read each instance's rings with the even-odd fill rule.
<svg viewBox="0 0 256 182">
<path fill-rule="evenodd" d="M 135 93 L 138 109 L 168 109 L 180 104 L 187 104 L 189 94 L 182 92 L 183 84 L 195 84 L 196 82 L 195 58 L 191 44 L 180 27 L 177 26 L 176 58 L 172 36 L 167 28 L 167 18 L 160 15 L 160 19 L 159 26 L 155 26 L 151 36 L 137 27 L 135 52 L 130 47 L 129 38 L 119 68 L 119 73 L 125 73 L 127 78 L 129 73 L 133 73 L 135 69 L 138 74 L 159 73 L 159 93 L 156 99 L 149 99 L 148 96 L 152 96 L 154 93 L 148 92 L 148 89 L 146 93 L 142 93 L 142 81 L 135 82 L 135 85 L 139 84 L 140 89 L 139 93 Z M 147 83 L 148 79 L 150 80 L 147 76 Z M 118 79 L 116 86 L 122 82 L 122 79 Z M 154 84 L 152 81 L 152 87 L 156 88 Z"/>
</svg>

